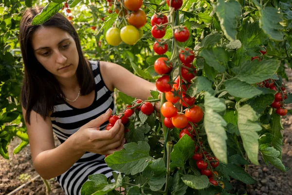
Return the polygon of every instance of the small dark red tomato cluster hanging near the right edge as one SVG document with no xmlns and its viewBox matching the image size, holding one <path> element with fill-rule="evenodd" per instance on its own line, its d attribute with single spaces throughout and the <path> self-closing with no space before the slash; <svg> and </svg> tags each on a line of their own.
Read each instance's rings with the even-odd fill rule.
<svg viewBox="0 0 292 195">
<path fill-rule="evenodd" d="M 287 115 L 288 110 L 285 108 L 284 100 L 288 98 L 286 93 L 286 88 L 284 83 L 282 83 L 281 87 L 276 87 L 273 79 L 267 79 L 260 84 L 260 87 L 270 88 L 277 93 L 275 94 L 275 98 L 271 106 L 276 109 L 276 113 L 280 116 Z"/>
</svg>

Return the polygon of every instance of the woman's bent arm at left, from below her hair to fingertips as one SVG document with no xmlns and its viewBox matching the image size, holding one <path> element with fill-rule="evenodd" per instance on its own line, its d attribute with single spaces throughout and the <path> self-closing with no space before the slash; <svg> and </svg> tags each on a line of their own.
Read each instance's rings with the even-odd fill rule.
<svg viewBox="0 0 292 195">
<path fill-rule="evenodd" d="M 23 117 L 26 110 L 22 107 Z M 82 126 L 65 142 L 55 148 L 50 117 L 43 119 L 35 111 L 31 112 L 30 125 L 26 123 L 33 165 L 44 179 L 59 176 L 68 171 L 86 151 L 96 154 L 111 154 L 124 144 L 124 126 L 118 122 L 110 131 L 99 131 L 99 126 L 107 121 L 111 110 Z M 118 149 L 115 149 L 120 147 Z"/>
</svg>

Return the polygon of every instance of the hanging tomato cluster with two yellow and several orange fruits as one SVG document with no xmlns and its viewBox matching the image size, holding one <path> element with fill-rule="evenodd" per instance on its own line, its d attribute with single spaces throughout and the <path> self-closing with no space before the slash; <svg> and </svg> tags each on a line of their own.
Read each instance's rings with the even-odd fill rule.
<svg viewBox="0 0 292 195">
<path fill-rule="evenodd" d="M 134 45 L 143 36 L 143 27 L 147 22 L 145 12 L 140 9 L 143 0 L 107 0 L 110 4 L 114 3 L 114 10 L 119 17 L 127 18 L 128 24 L 121 29 L 111 27 L 106 33 L 106 40 L 112 46 L 119 45 L 122 41 L 128 45 Z M 110 10 L 110 8 L 109 8 Z M 108 10 L 108 11 L 109 11 Z"/>
</svg>

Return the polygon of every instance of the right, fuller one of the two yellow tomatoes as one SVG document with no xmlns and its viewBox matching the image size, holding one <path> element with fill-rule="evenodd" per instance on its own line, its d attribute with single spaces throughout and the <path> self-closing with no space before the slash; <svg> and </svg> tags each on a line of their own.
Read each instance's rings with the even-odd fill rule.
<svg viewBox="0 0 292 195">
<path fill-rule="evenodd" d="M 139 40 L 139 31 L 135 26 L 127 25 L 121 29 L 121 38 L 128 45 L 134 45 Z"/>
</svg>

